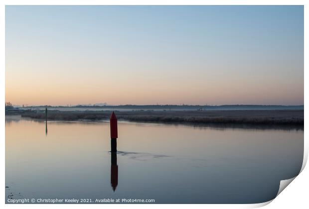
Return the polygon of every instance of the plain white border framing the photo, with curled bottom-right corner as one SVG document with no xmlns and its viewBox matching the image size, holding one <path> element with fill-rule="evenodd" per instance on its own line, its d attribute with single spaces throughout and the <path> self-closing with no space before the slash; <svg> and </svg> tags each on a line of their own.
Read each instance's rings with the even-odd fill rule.
<svg viewBox="0 0 309 209">
<path fill-rule="evenodd" d="M 0 137 L 1 137 L 1 168 L 3 169 L 3 172 L 1 172 L 1 179 L 2 179 L 2 190 L 0 192 L 0 201 L 1 205 L 4 204 L 4 163 L 5 163 L 5 126 L 4 126 L 4 98 L 5 98 L 5 76 L 4 76 L 4 69 L 5 69 L 5 63 L 4 63 L 4 55 L 5 55 L 5 37 L 4 37 L 4 23 L 5 23 L 5 5 L 135 5 L 135 4 L 142 4 L 142 5 L 305 5 L 305 70 L 304 70 L 304 79 L 306 81 L 307 73 L 306 69 L 308 68 L 308 61 L 306 59 L 307 52 L 308 52 L 308 41 L 306 37 L 308 36 L 308 0 L 2 0 L 1 1 L 1 15 L 0 15 L 0 24 L 1 28 L 3 29 L 0 33 L 0 40 L 1 40 L 1 59 L 0 59 L 0 66 L 1 66 L 1 75 L 0 75 L 0 84 L 1 84 L 1 129 L 0 131 Z M 306 85 L 305 82 L 305 92 L 308 90 L 308 85 Z M 305 106 L 307 104 L 307 97 L 305 94 Z M 308 116 L 308 111 L 305 108 L 305 118 Z M 307 123 L 305 120 L 305 129 L 307 129 Z M 308 134 L 305 131 L 305 155 L 304 155 L 304 169 L 307 158 L 308 158 Z M 307 189 L 308 189 L 308 176 L 309 171 L 308 169 L 305 169 L 300 176 L 296 178 L 295 181 L 293 181 L 293 184 L 289 186 L 288 190 L 285 190 L 282 194 L 278 196 L 270 205 L 267 206 L 267 208 L 280 208 L 280 209 L 288 209 L 291 207 L 296 208 L 304 208 L 304 206 L 308 206 L 308 197 L 307 197 Z M 295 182 L 295 183 L 294 183 Z M 270 201 L 272 202 L 272 201 Z M 268 202 L 268 203 L 270 203 Z M 102 208 L 102 207 L 113 207 L 113 208 L 120 208 L 120 207 L 126 207 L 126 208 L 157 208 L 157 207 L 163 207 L 163 208 L 170 208 L 170 207 L 177 207 L 177 208 L 187 208 L 187 207 L 194 207 L 194 208 L 256 208 L 261 207 L 264 205 L 267 205 L 268 203 L 264 204 L 252 204 L 252 205 L 57 205 L 56 207 L 64 208 L 64 207 L 75 207 L 75 208 Z M 42 205 L 5 205 L 5 207 L 8 208 L 42 208 Z M 54 208 L 55 205 L 44 205 L 44 208 Z"/>
</svg>

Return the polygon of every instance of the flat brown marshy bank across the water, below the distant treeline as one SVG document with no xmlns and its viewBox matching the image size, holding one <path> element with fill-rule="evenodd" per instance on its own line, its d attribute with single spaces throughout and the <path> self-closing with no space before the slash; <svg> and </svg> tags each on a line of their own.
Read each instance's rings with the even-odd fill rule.
<svg viewBox="0 0 309 209">
<path fill-rule="evenodd" d="M 115 111 L 118 119 L 135 122 L 303 126 L 304 110 Z M 45 119 L 45 111 L 20 113 Z M 105 120 L 111 111 L 48 110 L 48 120 Z"/>
</svg>

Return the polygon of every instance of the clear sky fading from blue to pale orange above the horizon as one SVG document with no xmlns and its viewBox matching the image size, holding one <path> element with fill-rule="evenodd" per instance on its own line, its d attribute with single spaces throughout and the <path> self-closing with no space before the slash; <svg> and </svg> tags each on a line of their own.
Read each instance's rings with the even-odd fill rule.
<svg viewBox="0 0 309 209">
<path fill-rule="evenodd" d="M 14 105 L 304 104 L 303 6 L 5 6 Z"/>
</svg>

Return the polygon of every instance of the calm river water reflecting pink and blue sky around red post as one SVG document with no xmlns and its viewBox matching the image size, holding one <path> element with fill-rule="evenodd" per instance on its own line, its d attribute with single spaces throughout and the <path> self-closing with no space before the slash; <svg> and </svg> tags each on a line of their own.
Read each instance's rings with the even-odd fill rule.
<svg viewBox="0 0 309 209">
<path fill-rule="evenodd" d="M 44 121 L 5 117 L 5 201 L 13 195 L 262 203 L 303 162 L 303 130 L 119 121 L 119 152 L 112 156 L 108 122 L 47 124 L 46 134 Z"/>
</svg>

